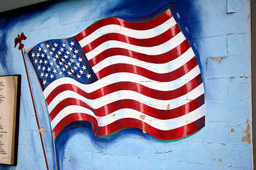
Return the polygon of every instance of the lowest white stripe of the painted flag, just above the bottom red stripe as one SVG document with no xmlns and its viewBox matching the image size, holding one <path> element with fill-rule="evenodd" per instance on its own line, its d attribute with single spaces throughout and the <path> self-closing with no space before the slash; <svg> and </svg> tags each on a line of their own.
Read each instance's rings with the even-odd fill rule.
<svg viewBox="0 0 256 170">
<path fill-rule="evenodd" d="M 174 119 L 168 119 L 168 120 L 161 120 L 161 119 L 156 119 L 154 117 L 145 115 L 144 113 L 141 113 L 139 111 L 133 110 L 133 109 L 120 109 L 118 111 L 115 111 L 109 115 L 106 115 L 104 117 L 98 117 L 94 115 L 94 113 L 84 107 L 81 106 L 75 106 L 71 105 L 68 107 L 65 107 L 58 113 L 58 115 L 52 120 L 51 126 L 52 129 L 56 127 L 56 125 L 67 115 L 70 115 L 72 113 L 84 113 L 91 115 L 95 117 L 98 121 L 98 126 L 99 127 L 104 127 L 106 125 L 109 125 L 110 123 L 113 123 L 114 121 L 117 121 L 119 119 L 123 118 L 133 118 L 133 119 L 138 119 L 142 122 L 147 123 L 148 125 L 157 128 L 159 130 L 172 130 L 178 127 L 182 127 L 185 125 L 188 125 L 201 117 L 204 116 L 204 105 L 199 107 L 198 109 L 186 114 L 182 115 L 180 117 L 174 118 Z M 113 117 L 113 115 L 115 116 Z M 141 119 L 140 115 L 145 115 L 145 119 Z"/>
</svg>

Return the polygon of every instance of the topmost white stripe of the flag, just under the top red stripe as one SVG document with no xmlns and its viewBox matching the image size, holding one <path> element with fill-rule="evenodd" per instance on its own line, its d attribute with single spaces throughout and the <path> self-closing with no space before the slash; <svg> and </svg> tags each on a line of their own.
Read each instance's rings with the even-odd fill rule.
<svg viewBox="0 0 256 170">
<path fill-rule="evenodd" d="M 175 24 L 176 22 L 173 17 L 168 19 L 163 24 L 155 28 L 151 28 L 149 30 L 133 30 L 130 28 L 125 28 L 123 26 L 110 24 L 110 25 L 106 25 L 101 28 L 98 28 L 98 30 L 95 30 L 92 34 L 80 40 L 79 43 L 81 47 L 84 47 L 88 43 L 99 38 L 100 36 L 103 36 L 104 34 L 108 34 L 111 32 L 119 33 L 124 36 L 137 38 L 137 39 L 152 38 L 166 32 L 168 29 L 172 28 L 172 26 L 174 26 Z"/>
</svg>

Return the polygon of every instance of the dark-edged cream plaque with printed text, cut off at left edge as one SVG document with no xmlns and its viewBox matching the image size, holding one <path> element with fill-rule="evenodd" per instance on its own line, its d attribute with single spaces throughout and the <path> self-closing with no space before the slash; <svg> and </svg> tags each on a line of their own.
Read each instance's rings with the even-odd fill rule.
<svg viewBox="0 0 256 170">
<path fill-rule="evenodd" d="M 0 163 L 17 164 L 21 75 L 0 76 Z"/>
</svg>

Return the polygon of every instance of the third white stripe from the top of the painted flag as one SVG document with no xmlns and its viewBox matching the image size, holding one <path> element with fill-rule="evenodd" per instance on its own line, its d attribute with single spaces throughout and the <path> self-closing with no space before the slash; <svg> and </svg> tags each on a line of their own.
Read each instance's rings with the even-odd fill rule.
<svg viewBox="0 0 256 170">
<path fill-rule="evenodd" d="M 98 64 L 94 65 L 92 69 L 94 73 L 97 73 L 98 71 L 104 69 L 105 67 L 108 67 L 109 65 L 122 63 L 122 64 L 136 65 L 138 67 L 142 67 L 144 69 L 153 71 L 155 73 L 169 73 L 171 71 L 174 71 L 180 68 L 182 65 L 186 64 L 194 56 L 195 55 L 191 47 L 190 49 L 188 49 L 188 51 L 180 55 L 180 57 L 177 57 L 176 59 L 163 64 L 148 63 L 148 62 L 141 61 L 139 59 L 132 58 L 132 57 L 127 57 L 124 55 L 115 55 L 100 61 Z"/>
</svg>

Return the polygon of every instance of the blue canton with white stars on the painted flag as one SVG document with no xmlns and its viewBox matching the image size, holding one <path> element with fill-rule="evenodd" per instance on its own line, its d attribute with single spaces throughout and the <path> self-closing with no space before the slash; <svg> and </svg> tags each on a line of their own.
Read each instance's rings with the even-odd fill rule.
<svg viewBox="0 0 256 170">
<path fill-rule="evenodd" d="M 61 77 L 71 77 L 84 84 L 98 80 L 74 37 L 41 42 L 28 52 L 28 57 L 43 91 Z"/>
</svg>

